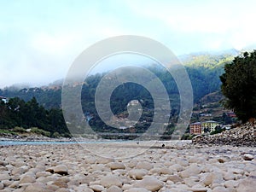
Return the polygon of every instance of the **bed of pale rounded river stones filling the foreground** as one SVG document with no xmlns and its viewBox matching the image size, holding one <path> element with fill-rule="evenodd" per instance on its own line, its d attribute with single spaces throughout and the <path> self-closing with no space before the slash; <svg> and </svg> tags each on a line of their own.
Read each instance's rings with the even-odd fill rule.
<svg viewBox="0 0 256 192">
<path fill-rule="evenodd" d="M 255 148 L 176 146 L 171 143 L 2 146 L 0 191 L 255 191 Z M 108 158 L 96 154 L 108 154 Z"/>
</svg>

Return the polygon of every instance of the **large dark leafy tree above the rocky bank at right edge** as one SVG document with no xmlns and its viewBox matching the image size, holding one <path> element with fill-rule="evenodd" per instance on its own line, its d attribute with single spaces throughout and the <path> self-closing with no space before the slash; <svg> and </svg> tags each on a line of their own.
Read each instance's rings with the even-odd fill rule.
<svg viewBox="0 0 256 192">
<path fill-rule="evenodd" d="M 256 117 L 256 50 L 245 52 L 224 67 L 220 76 L 221 90 L 226 97 L 224 107 L 232 109 L 246 122 Z"/>
</svg>

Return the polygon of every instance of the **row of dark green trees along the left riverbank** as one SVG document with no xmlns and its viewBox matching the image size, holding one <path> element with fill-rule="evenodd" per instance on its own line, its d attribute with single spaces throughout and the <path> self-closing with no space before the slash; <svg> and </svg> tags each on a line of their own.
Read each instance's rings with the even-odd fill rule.
<svg viewBox="0 0 256 192">
<path fill-rule="evenodd" d="M 38 127 L 44 131 L 67 136 L 68 130 L 61 108 L 45 109 L 32 97 L 28 102 L 19 97 L 10 98 L 9 102 L 0 102 L 0 129 L 9 130 L 14 127 L 24 129 Z"/>
</svg>

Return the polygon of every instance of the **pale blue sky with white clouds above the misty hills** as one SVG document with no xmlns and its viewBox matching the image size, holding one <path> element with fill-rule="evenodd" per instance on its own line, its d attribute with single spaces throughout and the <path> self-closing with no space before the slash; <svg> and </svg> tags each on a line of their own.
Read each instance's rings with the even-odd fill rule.
<svg viewBox="0 0 256 192">
<path fill-rule="evenodd" d="M 175 55 L 256 44 L 254 0 L 0 0 L 0 88 L 65 78 L 90 45 L 119 35 Z"/>
</svg>

